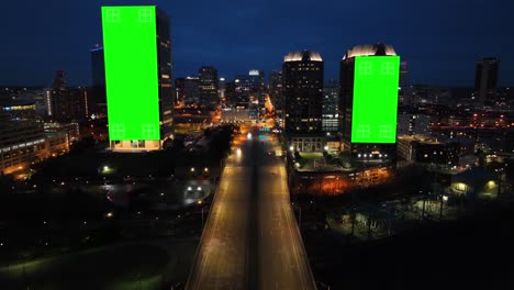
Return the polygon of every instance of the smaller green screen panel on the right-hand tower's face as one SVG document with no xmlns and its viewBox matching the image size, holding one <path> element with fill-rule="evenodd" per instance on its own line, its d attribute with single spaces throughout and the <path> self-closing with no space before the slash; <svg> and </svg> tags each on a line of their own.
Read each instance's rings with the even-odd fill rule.
<svg viewBox="0 0 514 290">
<path fill-rule="evenodd" d="M 395 143 L 400 57 L 355 58 L 353 143 Z"/>
</svg>

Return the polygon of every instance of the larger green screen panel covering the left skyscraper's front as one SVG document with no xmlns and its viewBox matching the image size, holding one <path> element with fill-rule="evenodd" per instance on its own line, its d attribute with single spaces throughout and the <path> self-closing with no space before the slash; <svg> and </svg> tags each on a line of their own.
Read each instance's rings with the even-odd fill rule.
<svg viewBox="0 0 514 290">
<path fill-rule="evenodd" d="M 111 141 L 160 140 L 155 7 L 102 7 Z"/>
</svg>

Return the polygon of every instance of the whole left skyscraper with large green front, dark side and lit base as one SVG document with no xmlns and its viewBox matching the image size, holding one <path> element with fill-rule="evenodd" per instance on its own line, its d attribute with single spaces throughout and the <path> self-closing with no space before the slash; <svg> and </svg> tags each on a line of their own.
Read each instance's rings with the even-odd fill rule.
<svg viewBox="0 0 514 290">
<path fill-rule="evenodd" d="M 168 15 L 155 5 L 102 7 L 111 149 L 155 150 L 172 137 Z"/>
</svg>

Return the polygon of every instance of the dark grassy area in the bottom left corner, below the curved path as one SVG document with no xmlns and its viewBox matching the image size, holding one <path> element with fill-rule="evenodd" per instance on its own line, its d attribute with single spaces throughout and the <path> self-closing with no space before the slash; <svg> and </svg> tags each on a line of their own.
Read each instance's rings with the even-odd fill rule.
<svg viewBox="0 0 514 290">
<path fill-rule="evenodd" d="M 134 244 L 43 258 L 0 268 L 2 289 L 160 289 L 175 257 Z M 171 267 L 174 268 L 174 267 Z"/>
</svg>

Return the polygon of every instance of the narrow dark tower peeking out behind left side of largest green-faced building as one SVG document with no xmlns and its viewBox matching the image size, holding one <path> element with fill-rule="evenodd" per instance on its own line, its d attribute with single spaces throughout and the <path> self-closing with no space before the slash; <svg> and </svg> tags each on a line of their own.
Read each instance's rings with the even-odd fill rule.
<svg viewBox="0 0 514 290">
<path fill-rule="evenodd" d="M 96 47 L 91 53 L 92 87 L 90 93 L 90 111 L 97 119 L 107 118 L 107 92 L 105 92 L 105 60 L 103 47 Z"/>
</svg>

